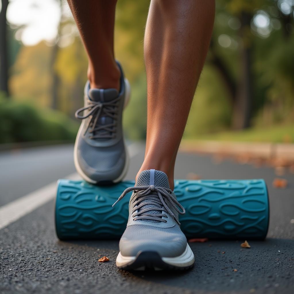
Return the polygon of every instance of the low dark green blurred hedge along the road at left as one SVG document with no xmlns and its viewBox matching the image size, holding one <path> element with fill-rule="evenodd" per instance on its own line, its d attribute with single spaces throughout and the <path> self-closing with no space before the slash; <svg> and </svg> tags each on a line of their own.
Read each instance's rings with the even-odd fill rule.
<svg viewBox="0 0 294 294">
<path fill-rule="evenodd" d="M 64 114 L 0 96 L 0 143 L 73 141 L 78 125 Z"/>
</svg>

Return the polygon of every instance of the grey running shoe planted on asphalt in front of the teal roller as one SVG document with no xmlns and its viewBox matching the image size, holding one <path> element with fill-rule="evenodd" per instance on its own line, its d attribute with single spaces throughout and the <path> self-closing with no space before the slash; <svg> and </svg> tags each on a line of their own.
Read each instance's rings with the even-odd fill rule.
<svg viewBox="0 0 294 294">
<path fill-rule="evenodd" d="M 166 174 L 154 169 L 142 171 L 135 187 L 127 188 L 116 203 L 130 191 L 133 194 L 128 224 L 119 242 L 117 267 L 125 270 L 192 267 L 194 254 L 178 221 L 178 214 L 184 214 L 185 210 L 169 188 Z"/>
</svg>

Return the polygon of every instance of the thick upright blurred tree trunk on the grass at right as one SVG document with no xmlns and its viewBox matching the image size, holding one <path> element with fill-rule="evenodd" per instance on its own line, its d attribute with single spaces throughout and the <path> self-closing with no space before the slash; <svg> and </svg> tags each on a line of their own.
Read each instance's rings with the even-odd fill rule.
<svg viewBox="0 0 294 294">
<path fill-rule="evenodd" d="M 240 80 L 237 87 L 237 96 L 233 109 L 233 128 L 244 129 L 250 126 L 252 116 L 252 44 L 249 40 L 251 15 L 242 12 L 240 34 L 243 39 L 243 48 L 240 52 Z"/>
</svg>

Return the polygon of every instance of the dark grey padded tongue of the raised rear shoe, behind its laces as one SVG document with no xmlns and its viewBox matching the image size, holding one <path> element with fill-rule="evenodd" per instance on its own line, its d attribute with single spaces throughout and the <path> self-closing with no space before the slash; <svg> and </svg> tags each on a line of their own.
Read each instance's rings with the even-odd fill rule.
<svg viewBox="0 0 294 294">
<path fill-rule="evenodd" d="M 90 89 L 88 91 L 88 96 L 90 98 L 90 100 L 92 101 L 96 101 L 96 102 L 109 102 L 115 98 L 118 97 L 118 91 L 116 89 L 113 88 L 109 88 L 109 89 Z M 97 121 L 98 125 L 103 126 L 103 125 L 109 125 L 111 123 L 113 123 L 113 119 L 109 116 L 103 116 L 101 115 L 98 118 Z M 106 131 L 104 130 L 100 130 L 100 131 L 96 131 L 94 132 L 94 135 L 105 135 Z M 100 138 L 100 141 L 106 141 L 108 140 L 107 138 Z"/>
</svg>

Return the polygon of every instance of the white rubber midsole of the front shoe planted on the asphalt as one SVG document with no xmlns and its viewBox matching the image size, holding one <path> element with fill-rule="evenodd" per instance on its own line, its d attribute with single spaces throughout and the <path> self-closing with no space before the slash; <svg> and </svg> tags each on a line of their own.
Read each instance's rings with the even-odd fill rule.
<svg viewBox="0 0 294 294">
<path fill-rule="evenodd" d="M 116 258 L 116 266 L 118 268 L 125 268 L 125 269 L 134 269 L 134 270 L 144 270 L 146 267 L 150 265 L 150 259 L 146 259 L 146 264 L 144 264 L 144 259 L 141 258 L 139 262 L 136 263 L 137 259 L 139 259 L 140 253 L 137 256 L 123 256 L 121 252 L 118 253 Z M 152 255 L 152 252 L 150 253 Z M 154 255 L 154 254 L 153 254 Z M 157 260 L 154 263 L 155 270 L 162 270 L 165 268 L 190 268 L 195 261 L 194 254 L 187 243 L 185 251 L 176 257 L 160 257 L 159 255 L 156 257 Z M 158 258 L 161 258 L 161 262 L 158 262 Z M 166 266 L 165 266 L 166 265 Z"/>
</svg>

